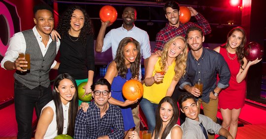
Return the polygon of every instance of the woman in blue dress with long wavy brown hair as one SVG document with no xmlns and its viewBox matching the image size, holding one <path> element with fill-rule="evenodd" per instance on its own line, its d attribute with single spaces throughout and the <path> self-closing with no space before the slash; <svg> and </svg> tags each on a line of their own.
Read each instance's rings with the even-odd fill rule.
<svg viewBox="0 0 266 139">
<path fill-rule="evenodd" d="M 137 102 L 126 100 L 122 95 L 123 84 L 128 80 L 138 80 L 140 64 L 140 45 L 139 43 L 131 38 L 126 37 L 122 39 L 118 45 L 115 59 L 110 62 L 107 67 L 105 79 L 111 84 L 111 98 L 108 100 L 109 103 L 118 105 L 121 108 L 125 137 L 129 130 L 135 127 L 133 114 L 129 105 Z"/>
</svg>

